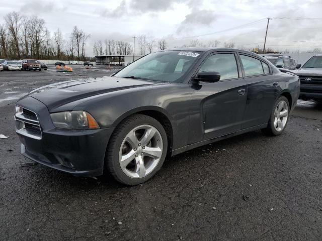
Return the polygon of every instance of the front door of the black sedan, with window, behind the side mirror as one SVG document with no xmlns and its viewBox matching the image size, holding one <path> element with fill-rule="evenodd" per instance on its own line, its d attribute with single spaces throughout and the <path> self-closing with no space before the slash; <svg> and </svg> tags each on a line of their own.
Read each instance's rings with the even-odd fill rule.
<svg viewBox="0 0 322 241">
<path fill-rule="evenodd" d="M 247 83 L 241 75 L 237 54 L 211 54 L 201 64 L 198 72 L 202 71 L 220 74 L 218 82 L 199 82 L 200 94 L 203 95 L 201 109 L 205 109 L 204 140 L 240 130 L 246 106 Z"/>
</svg>

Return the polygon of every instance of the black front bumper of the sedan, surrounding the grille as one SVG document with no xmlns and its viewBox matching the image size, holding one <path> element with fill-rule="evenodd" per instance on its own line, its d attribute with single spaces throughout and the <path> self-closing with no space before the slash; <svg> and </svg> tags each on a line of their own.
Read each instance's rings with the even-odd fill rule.
<svg viewBox="0 0 322 241">
<path fill-rule="evenodd" d="M 45 166 L 80 176 L 103 174 L 105 152 L 114 128 L 98 130 L 63 130 L 53 126 L 47 107 L 25 97 L 17 105 L 37 114 L 41 139 L 17 132 L 22 154 Z"/>
</svg>

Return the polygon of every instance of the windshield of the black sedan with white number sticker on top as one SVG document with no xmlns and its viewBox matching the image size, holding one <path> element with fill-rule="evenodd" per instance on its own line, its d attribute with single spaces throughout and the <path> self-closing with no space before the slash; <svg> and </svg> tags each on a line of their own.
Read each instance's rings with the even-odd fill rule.
<svg viewBox="0 0 322 241">
<path fill-rule="evenodd" d="M 148 54 L 128 65 L 116 77 L 179 82 L 201 52 L 163 51 Z"/>
</svg>

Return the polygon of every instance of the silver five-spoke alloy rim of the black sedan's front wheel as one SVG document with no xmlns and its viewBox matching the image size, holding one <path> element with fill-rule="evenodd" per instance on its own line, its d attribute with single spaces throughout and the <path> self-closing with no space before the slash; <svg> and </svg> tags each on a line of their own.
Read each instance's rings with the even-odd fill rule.
<svg viewBox="0 0 322 241">
<path fill-rule="evenodd" d="M 119 163 L 131 178 L 143 178 L 151 173 L 163 154 L 163 140 L 159 131 L 150 125 L 132 129 L 124 138 Z"/>
</svg>

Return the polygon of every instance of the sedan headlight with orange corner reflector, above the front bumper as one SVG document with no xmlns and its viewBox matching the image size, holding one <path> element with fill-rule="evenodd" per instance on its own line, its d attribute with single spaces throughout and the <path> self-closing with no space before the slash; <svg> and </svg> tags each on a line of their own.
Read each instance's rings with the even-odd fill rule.
<svg viewBox="0 0 322 241">
<path fill-rule="evenodd" d="M 94 117 L 86 111 L 74 110 L 50 114 L 55 127 L 63 129 L 100 129 Z"/>
</svg>

